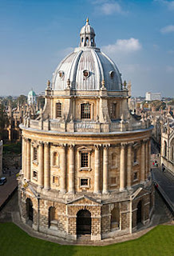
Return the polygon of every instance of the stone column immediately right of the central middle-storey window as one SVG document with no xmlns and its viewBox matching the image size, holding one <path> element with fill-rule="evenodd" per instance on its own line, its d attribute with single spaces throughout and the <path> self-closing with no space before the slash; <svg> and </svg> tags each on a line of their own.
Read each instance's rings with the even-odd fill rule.
<svg viewBox="0 0 174 256">
<path fill-rule="evenodd" d="M 94 193 L 100 193 L 100 146 L 95 145 Z"/>
</svg>

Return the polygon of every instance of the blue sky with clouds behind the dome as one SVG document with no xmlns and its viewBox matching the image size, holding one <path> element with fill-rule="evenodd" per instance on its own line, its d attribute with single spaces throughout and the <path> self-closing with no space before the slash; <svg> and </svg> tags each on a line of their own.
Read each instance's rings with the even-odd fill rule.
<svg viewBox="0 0 174 256">
<path fill-rule="evenodd" d="M 132 95 L 174 97 L 174 1 L 0 0 L 0 95 L 45 90 L 85 18 Z"/>
</svg>

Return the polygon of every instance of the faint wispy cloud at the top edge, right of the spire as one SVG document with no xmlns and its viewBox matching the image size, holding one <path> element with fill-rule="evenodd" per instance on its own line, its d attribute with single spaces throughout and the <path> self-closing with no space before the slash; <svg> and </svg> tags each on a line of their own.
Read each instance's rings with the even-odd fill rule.
<svg viewBox="0 0 174 256">
<path fill-rule="evenodd" d="M 112 14 L 126 14 L 119 2 L 113 0 L 96 0 L 93 2 L 96 6 L 98 14 L 112 15 Z"/>
</svg>

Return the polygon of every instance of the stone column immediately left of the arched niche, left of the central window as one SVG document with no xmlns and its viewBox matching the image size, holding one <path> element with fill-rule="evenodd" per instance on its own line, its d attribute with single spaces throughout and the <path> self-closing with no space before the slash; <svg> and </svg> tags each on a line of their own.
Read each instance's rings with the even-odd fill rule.
<svg viewBox="0 0 174 256">
<path fill-rule="evenodd" d="M 50 189 L 50 151 L 49 142 L 44 142 L 44 188 Z"/>
</svg>

